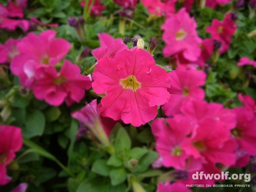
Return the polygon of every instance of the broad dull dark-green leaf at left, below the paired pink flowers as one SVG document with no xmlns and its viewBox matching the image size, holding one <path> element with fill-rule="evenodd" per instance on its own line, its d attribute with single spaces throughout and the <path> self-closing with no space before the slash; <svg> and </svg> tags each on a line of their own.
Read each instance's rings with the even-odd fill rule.
<svg viewBox="0 0 256 192">
<path fill-rule="evenodd" d="M 43 134 L 45 127 L 45 117 L 39 110 L 34 110 L 32 113 L 26 114 L 25 128 L 23 136 L 27 138 L 35 137 Z"/>
</svg>

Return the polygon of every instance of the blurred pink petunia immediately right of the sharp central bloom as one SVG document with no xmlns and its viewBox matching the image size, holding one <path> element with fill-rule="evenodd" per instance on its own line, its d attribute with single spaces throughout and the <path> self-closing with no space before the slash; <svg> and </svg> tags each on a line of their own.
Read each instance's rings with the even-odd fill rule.
<svg viewBox="0 0 256 192">
<path fill-rule="evenodd" d="M 204 98 L 204 91 L 199 87 L 205 84 L 204 72 L 179 66 L 168 75 L 171 78 L 171 87 L 167 90 L 171 98 L 162 106 L 164 114 L 168 117 L 180 113 L 181 105 L 185 100 Z"/>
</svg>

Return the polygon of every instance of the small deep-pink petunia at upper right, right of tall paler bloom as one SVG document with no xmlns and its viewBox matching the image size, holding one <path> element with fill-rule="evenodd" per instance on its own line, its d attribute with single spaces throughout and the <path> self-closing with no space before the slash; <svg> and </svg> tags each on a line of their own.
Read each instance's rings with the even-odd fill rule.
<svg viewBox="0 0 256 192">
<path fill-rule="evenodd" d="M 212 35 L 212 39 L 221 42 L 220 53 L 224 53 L 229 48 L 231 36 L 236 32 L 237 25 L 232 20 L 231 14 L 226 14 L 223 21 L 213 19 L 212 25 L 206 31 Z"/>
</svg>

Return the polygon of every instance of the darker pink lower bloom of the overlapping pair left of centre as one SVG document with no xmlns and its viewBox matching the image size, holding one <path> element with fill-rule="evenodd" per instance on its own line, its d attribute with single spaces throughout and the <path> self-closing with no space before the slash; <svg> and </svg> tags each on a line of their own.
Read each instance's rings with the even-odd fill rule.
<svg viewBox="0 0 256 192">
<path fill-rule="evenodd" d="M 80 72 L 79 66 L 68 60 L 64 61 L 59 73 L 53 66 L 37 68 L 33 93 L 37 99 L 44 99 L 54 106 L 59 106 L 64 100 L 68 106 L 79 102 L 85 96 L 85 89 L 92 87 L 91 78 L 80 75 Z"/>
</svg>

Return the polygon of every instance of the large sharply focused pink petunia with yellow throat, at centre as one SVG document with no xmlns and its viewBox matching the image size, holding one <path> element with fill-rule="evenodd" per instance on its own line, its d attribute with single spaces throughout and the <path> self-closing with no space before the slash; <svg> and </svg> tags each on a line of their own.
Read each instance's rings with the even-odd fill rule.
<svg viewBox="0 0 256 192">
<path fill-rule="evenodd" d="M 100 59 L 93 80 L 94 91 L 106 93 L 99 114 L 135 127 L 153 120 L 157 106 L 170 98 L 167 72 L 156 66 L 152 55 L 143 49 L 123 49 L 114 59 Z"/>
</svg>

